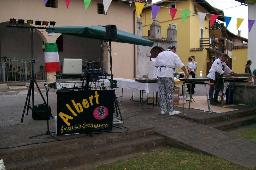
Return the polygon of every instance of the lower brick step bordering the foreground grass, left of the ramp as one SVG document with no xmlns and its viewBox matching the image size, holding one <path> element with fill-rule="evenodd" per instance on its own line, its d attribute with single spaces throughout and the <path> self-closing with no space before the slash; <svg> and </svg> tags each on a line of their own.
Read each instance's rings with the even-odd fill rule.
<svg viewBox="0 0 256 170">
<path fill-rule="evenodd" d="M 96 147 L 5 162 L 5 167 L 6 170 L 59 169 L 93 163 L 106 158 L 113 158 L 115 156 L 127 155 L 141 150 L 163 146 L 164 142 L 164 137 L 150 135 Z"/>
</svg>

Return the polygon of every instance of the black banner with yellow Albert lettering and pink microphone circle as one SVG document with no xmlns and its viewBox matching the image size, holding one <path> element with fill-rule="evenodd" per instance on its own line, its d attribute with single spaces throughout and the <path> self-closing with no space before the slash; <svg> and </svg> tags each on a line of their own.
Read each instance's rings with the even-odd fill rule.
<svg viewBox="0 0 256 170">
<path fill-rule="evenodd" d="M 115 90 L 57 92 L 58 135 L 111 130 Z"/>
</svg>

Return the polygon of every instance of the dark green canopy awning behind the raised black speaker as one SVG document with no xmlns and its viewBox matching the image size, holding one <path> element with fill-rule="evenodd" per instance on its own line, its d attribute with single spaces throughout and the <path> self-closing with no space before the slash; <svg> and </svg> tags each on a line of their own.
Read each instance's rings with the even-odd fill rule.
<svg viewBox="0 0 256 170">
<path fill-rule="evenodd" d="M 55 29 L 46 29 L 47 32 L 62 33 L 68 35 L 75 35 L 80 37 L 87 37 L 93 39 L 105 39 L 105 27 L 102 26 L 65 26 L 65 27 L 54 27 Z M 129 43 L 145 46 L 153 46 L 154 42 L 145 38 L 133 35 L 131 33 L 121 31 L 117 29 L 117 40 L 118 43 Z"/>
</svg>

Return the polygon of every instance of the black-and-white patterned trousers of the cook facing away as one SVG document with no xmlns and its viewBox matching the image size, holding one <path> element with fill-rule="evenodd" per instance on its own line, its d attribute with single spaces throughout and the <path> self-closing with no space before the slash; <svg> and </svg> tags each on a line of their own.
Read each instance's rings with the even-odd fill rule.
<svg viewBox="0 0 256 170">
<path fill-rule="evenodd" d="M 162 111 L 173 112 L 173 86 L 174 80 L 171 77 L 157 77 L 160 106 Z"/>
</svg>

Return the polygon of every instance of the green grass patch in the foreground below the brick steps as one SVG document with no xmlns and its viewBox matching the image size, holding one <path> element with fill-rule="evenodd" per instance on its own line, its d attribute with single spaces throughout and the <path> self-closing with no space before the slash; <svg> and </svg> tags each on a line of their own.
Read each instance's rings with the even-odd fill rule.
<svg viewBox="0 0 256 170">
<path fill-rule="evenodd" d="M 100 165 L 93 170 L 220 170 L 220 169 L 236 169 L 250 170 L 250 168 L 242 167 L 233 162 L 197 154 L 187 150 L 177 148 L 163 147 L 155 151 L 149 151 L 137 158 L 117 163 Z"/>
</svg>

